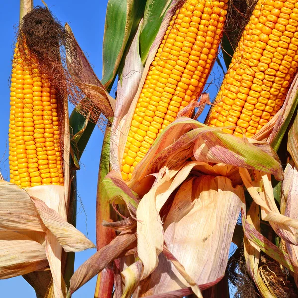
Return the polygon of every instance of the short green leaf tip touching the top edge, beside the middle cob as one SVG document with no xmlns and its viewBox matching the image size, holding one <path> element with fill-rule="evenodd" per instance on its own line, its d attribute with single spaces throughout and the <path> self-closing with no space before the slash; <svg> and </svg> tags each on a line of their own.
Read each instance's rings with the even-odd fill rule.
<svg viewBox="0 0 298 298">
<path fill-rule="evenodd" d="M 141 59 L 144 64 L 172 0 L 147 0 L 140 34 Z"/>
</svg>

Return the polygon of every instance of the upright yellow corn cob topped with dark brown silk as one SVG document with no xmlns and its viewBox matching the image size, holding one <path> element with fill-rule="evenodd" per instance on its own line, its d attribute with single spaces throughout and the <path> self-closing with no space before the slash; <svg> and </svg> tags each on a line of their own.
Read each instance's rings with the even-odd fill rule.
<svg viewBox="0 0 298 298">
<path fill-rule="evenodd" d="M 56 92 L 36 57 L 20 53 L 18 45 L 10 91 L 10 182 L 63 185 Z"/>
</svg>

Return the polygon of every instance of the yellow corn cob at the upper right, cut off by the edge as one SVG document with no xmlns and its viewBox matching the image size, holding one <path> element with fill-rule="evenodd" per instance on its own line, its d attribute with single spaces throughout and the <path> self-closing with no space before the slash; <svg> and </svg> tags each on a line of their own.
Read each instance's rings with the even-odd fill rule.
<svg viewBox="0 0 298 298">
<path fill-rule="evenodd" d="M 252 137 L 281 108 L 297 63 L 298 1 L 259 0 L 207 124 Z"/>
</svg>

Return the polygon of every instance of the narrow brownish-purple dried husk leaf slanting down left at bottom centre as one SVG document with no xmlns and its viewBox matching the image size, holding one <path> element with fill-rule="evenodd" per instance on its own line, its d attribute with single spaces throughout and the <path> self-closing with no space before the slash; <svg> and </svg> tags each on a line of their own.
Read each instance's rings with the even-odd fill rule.
<svg viewBox="0 0 298 298">
<path fill-rule="evenodd" d="M 92 277 L 103 270 L 111 261 L 117 259 L 129 248 L 137 237 L 134 233 L 121 233 L 108 245 L 98 250 L 91 258 L 83 263 L 70 280 L 69 296 L 83 286 Z"/>
</svg>

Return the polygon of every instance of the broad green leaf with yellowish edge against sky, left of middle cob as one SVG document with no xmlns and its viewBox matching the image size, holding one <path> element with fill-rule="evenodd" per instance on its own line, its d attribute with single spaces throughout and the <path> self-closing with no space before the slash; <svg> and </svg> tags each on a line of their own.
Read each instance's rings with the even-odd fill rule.
<svg viewBox="0 0 298 298">
<path fill-rule="evenodd" d="M 109 0 L 103 40 L 102 84 L 107 88 L 114 80 L 132 28 L 137 28 L 145 0 Z"/>
</svg>

